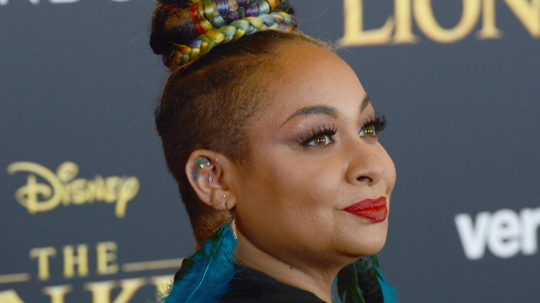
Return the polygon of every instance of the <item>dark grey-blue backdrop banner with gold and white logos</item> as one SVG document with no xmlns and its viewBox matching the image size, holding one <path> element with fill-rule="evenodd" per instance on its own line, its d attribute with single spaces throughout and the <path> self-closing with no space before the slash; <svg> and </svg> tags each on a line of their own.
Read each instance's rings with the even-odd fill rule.
<svg viewBox="0 0 540 303">
<path fill-rule="evenodd" d="M 540 1 L 297 0 L 397 167 L 402 302 L 539 302 Z M 0 302 L 153 300 L 195 248 L 152 111 L 151 0 L 0 0 Z"/>
</svg>

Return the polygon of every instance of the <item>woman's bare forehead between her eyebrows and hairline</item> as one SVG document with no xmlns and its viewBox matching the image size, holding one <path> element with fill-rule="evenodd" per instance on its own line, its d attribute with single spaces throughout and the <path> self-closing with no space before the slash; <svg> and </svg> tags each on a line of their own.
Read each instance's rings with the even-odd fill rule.
<svg viewBox="0 0 540 303">
<path fill-rule="evenodd" d="M 278 51 L 280 75 L 267 90 L 270 102 L 264 116 L 282 123 L 303 111 L 332 109 L 339 115 L 351 106 L 368 105 L 357 75 L 337 55 L 306 42 L 289 43 Z"/>
</svg>

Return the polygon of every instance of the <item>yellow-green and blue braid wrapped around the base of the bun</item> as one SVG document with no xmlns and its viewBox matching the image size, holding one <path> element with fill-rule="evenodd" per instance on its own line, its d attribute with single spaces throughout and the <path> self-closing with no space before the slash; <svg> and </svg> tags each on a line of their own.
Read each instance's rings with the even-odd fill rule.
<svg viewBox="0 0 540 303">
<path fill-rule="evenodd" d="M 184 66 L 208 53 L 214 46 L 226 44 L 243 35 L 251 35 L 264 30 L 296 30 L 296 22 L 287 12 L 271 12 L 257 17 L 245 17 L 244 19 L 235 20 L 231 24 L 217 29 L 210 28 L 188 45 L 174 44 L 177 48 L 165 60 L 165 64 L 171 69 Z"/>
</svg>

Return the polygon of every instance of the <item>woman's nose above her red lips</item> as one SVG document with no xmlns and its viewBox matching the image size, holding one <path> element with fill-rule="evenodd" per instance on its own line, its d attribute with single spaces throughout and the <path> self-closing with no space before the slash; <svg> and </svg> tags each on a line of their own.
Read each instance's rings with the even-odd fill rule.
<svg viewBox="0 0 540 303">
<path fill-rule="evenodd" d="M 384 161 L 381 159 L 384 156 L 384 149 L 381 149 L 378 144 L 360 140 L 360 143 L 356 140 L 352 143 L 354 147 L 350 149 L 348 155 L 349 163 L 345 178 L 351 184 L 375 185 L 384 176 Z"/>
</svg>

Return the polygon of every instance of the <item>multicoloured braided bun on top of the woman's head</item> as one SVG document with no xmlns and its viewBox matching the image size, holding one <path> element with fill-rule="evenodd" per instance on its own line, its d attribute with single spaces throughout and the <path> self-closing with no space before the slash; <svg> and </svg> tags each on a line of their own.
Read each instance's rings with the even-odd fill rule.
<svg viewBox="0 0 540 303">
<path fill-rule="evenodd" d="M 264 30 L 296 30 L 287 0 L 160 0 L 152 17 L 150 46 L 171 69 Z"/>
</svg>

